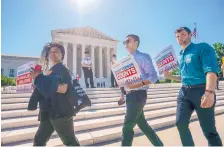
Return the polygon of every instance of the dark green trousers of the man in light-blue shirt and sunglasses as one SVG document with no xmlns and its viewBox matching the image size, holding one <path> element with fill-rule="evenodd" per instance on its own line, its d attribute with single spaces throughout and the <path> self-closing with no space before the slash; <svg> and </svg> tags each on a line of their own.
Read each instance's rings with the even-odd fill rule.
<svg viewBox="0 0 224 147">
<path fill-rule="evenodd" d="M 122 146 L 131 146 L 134 137 L 134 127 L 137 124 L 154 146 L 163 146 L 163 143 L 154 130 L 148 125 L 143 108 L 147 100 L 146 90 L 130 92 L 126 95 L 127 112 L 122 130 Z"/>
</svg>

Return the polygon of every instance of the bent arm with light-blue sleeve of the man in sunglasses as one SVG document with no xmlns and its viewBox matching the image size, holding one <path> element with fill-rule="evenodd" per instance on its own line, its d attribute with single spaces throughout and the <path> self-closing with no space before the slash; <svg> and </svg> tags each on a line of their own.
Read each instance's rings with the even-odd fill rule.
<svg viewBox="0 0 224 147">
<path fill-rule="evenodd" d="M 128 85 L 127 87 L 129 89 L 140 88 L 144 86 L 143 82 L 145 85 L 149 85 L 155 83 L 158 80 L 157 72 L 153 66 L 152 59 L 149 55 L 147 57 L 144 57 L 140 66 L 145 71 L 145 74 L 148 75 L 148 77 L 139 83 Z"/>
</svg>

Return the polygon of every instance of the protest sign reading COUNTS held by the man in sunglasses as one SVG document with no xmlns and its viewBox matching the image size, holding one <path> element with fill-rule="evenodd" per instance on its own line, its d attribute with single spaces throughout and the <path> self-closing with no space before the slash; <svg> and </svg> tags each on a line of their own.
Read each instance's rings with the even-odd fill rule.
<svg viewBox="0 0 224 147">
<path fill-rule="evenodd" d="M 138 64 L 132 55 L 116 62 L 112 66 L 112 72 L 119 87 L 142 81 Z"/>
</svg>

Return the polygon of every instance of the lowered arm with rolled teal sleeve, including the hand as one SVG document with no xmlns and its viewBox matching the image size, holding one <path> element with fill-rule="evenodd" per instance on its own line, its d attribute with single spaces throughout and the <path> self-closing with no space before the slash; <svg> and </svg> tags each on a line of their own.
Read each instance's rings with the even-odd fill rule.
<svg viewBox="0 0 224 147">
<path fill-rule="evenodd" d="M 201 99 L 202 108 L 210 108 L 215 101 L 215 87 L 218 75 L 218 62 L 215 50 L 208 44 L 202 44 L 200 60 L 202 69 L 206 75 L 206 90 Z"/>
</svg>

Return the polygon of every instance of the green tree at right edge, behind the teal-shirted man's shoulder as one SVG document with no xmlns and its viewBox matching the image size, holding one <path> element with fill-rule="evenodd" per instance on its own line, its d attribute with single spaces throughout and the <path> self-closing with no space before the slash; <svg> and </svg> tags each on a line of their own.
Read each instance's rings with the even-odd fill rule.
<svg viewBox="0 0 224 147">
<path fill-rule="evenodd" d="M 219 74 L 221 74 L 222 73 L 222 71 L 221 71 L 222 57 L 224 56 L 224 44 L 217 42 L 217 43 L 213 44 L 213 47 L 215 49 L 217 61 L 219 64 L 219 70 L 220 70 Z"/>
</svg>

